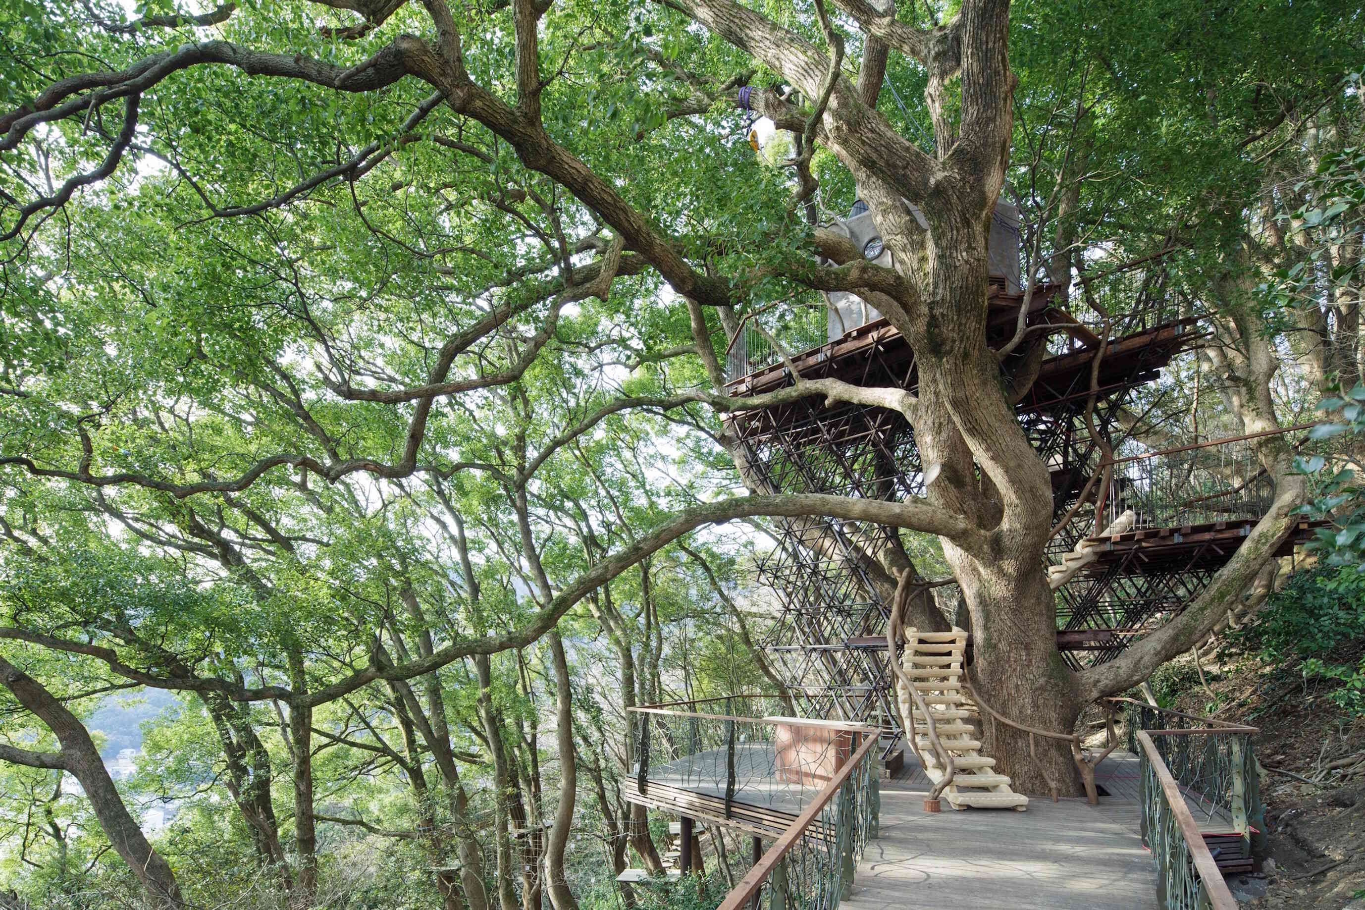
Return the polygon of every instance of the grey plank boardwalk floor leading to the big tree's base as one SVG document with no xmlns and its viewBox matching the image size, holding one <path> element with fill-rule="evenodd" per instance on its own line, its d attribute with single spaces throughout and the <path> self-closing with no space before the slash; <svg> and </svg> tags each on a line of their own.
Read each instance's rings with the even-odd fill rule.
<svg viewBox="0 0 1365 910">
<path fill-rule="evenodd" d="M 1156 870 L 1138 836 L 1136 798 L 1100 797 L 1100 805 L 1092 806 L 1085 799 L 1036 797 L 1028 812 L 953 812 L 945 806 L 931 814 L 923 808 L 928 782 L 912 764 L 908 754 L 901 775 L 882 784 L 880 838 L 868 842 L 853 895 L 841 907 L 1158 906 Z M 1108 760 L 1100 768 L 1106 764 Z M 1123 764 L 1115 763 L 1115 771 L 1123 771 Z"/>
</svg>

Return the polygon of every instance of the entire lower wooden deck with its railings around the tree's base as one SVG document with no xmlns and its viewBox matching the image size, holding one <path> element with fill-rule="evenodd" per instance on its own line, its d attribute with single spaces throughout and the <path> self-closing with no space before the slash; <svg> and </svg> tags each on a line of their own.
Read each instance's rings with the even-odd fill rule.
<svg viewBox="0 0 1365 910">
<path fill-rule="evenodd" d="M 722 860 L 734 884 L 721 910 L 1231 910 L 1223 875 L 1252 869 L 1260 835 L 1256 731 L 1108 707 L 1126 712 L 1129 749 L 1097 765 L 1093 805 L 1035 797 L 1026 812 L 930 812 L 930 778 L 909 750 L 883 768 L 875 729 L 768 714 L 788 705 L 759 696 L 632 709 L 627 795 L 677 817 L 681 839 L 665 855 L 681 868 L 663 879 L 704 872 L 699 835 L 718 860 L 726 838 L 751 843 L 743 879 Z M 631 869 L 620 880 L 657 879 Z"/>
</svg>

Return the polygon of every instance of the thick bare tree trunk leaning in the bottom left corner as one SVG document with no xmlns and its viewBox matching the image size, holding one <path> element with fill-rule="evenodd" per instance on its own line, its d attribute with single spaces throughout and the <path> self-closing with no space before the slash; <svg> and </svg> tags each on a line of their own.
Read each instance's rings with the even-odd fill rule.
<svg viewBox="0 0 1365 910">
<path fill-rule="evenodd" d="M 12 663 L 0 656 L 0 684 L 4 684 L 14 697 L 27 711 L 52 730 L 61 744 L 61 752 L 52 756 L 60 764 L 40 767 L 60 767 L 70 771 L 85 790 L 90 808 L 100 820 L 109 845 L 123 857 L 132 873 L 147 892 L 153 907 L 183 907 L 180 885 L 176 883 L 171 864 L 152 849 L 136 820 L 128 814 L 127 806 L 113 779 L 100 759 L 100 750 L 85 724 L 61 704 L 61 700 L 48 692 L 37 679 L 29 677 Z M 15 750 L 16 753 L 19 750 Z M 27 753 L 49 754 L 49 753 Z M 0 753 L 0 759 L 14 759 L 15 754 Z"/>
</svg>

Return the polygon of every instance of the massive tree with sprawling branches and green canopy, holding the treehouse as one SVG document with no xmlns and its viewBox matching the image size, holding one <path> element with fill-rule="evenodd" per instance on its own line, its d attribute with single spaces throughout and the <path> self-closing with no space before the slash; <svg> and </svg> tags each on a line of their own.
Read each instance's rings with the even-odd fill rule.
<svg viewBox="0 0 1365 910">
<path fill-rule="evenodd" d="M 996 0 L 281 0 L 146 4 L 132 19 L 117 4 L 11 4 L 0 60 L 7 476 L 64 484 L 81 499 L 71 509 L 102 516 L 96 527 L 112 538 L 183 548 L 253 603 L 278 603 L 284 589 L 259 577 L 257 551 L 280 566 L 313 558 L 307 516 L 347 536 L 356 572 L 374 562 L 396 578 L 416 574 L 404 565 L 412 554 L 382 535 L 367 542 L 363 521 L 339 517 L 366 516 L 371 494 L 386 508 L 386 491 L 405 502 L 416 490 L 450 523 L 425 527 L 460 554 L 463 572 L 452 574 L 465 581 L 452 596 L 467 613 L 437 623 L 408 604 L 411 649 L 394 652 L 388 619 L 362 634 L 363 608 L 352 604 L 359 613 L 343 618 L 358 630 L 354 649 L 337 666 L 322 674 L 289 644 L 300 622 L 276 630 L 276 675 L 255 681 L 221 655 L 198 655 L 218 660 L 207 674 L 160 654 L 124 619 L 101 619 L 108 644 L 94 644 L 66 634 L 71 623 L 18 611 L 5 639 L 203 693 L 224 723 L 231 704 L 278 701 L 299 756 L 311 748 L 311 712 L 371 684 L 392 685 L 414 718 L 431 714 L 427 730 L 444 723 L 418 704 L 420 681 L 472 659 L 471 685 L 489 690 L 487 655 L 536 641 L 584 598 L 601 613 L 590 592 L 699 527 L 826 514 L 939 538 L 971 618 L 977 685 L 1003 714 L 1069 733 L 1089 701 L 1208 634 L 1283 540 L 1305 483 L 1283 442 L 1261 441 L 1276 498 L 1215 583 L 1119 659 L 1070 671 L 1054 647 L 1044 574 L 1048 471 L 1010 405 L 1016 378 L 986 341 L 996 199 L 1013 181 L 1013 194 L 1046 201 L 1031 236 L 1047 228 L 1036 246 L 1047 255 L 1032 265 L 1061 284 L 1100 240 L 1134 255 L 1182 250 L 1207 278 L 1219 338 L 1207 356 L 1235 426 L 1275 428 L 1279 357 L 1254 295 L 1259 276 L 1294 254 L 1291 240 L 1265 240 L 1283 201 L 1274 179 L 1257 184 L 1265 175 L 1253 165 L 1342 102 L 1342 60 L 1358 35 L 1338 33 L 1349 16 L 1332 3 L 1204 23 L 1216 46 L 1182 44 L 1200 26 L 1193 12 L 1145 10 L 1133 27 L 1103 14 L 1089 38 L 1088 16 L 1102 14 L 1063 5 L 1031 10 L 1021 89 L 1010 4 Z M 1265 31 L 1299 57 L 1261 49 Z M 883 111 L 895 89 L 889 72 L 915 111 Z M 1261 91 L 1267 79 L 1274 90 Z M 1158 105 L 1151 89 L 1163 80 L 1179 89 Z M 789 168 L 745 151 L 740 87 L 751 89 L 745 106 L 793 135 Z M 1029 119 L 1016 117 L 1017 98 Z M 1223 157 L 1209 165 L 1192 150 Z M 1164 179 L 1181 166 L 1186 179 Z M 816 187 L 835 199 L 852 183 L 894 269 L 807 220 Z M 1249 203 L 1259 191 L 1264 211 Z M 816 266 L 816 252 L 834 265 Z M 864 296 L 905 336 L 915 394 L 837 381 L 725 393 L 721 363 L 740 319 L 818 291 Z M 610 447 L 622 415 L 661 415 L 666 449 L 714 468 L 728 446 L 737 457 L 718 415 L 799 397 L 902 413 L 932 467 L 925 497 L 711 497 L 693 484 L 692 502 L 674 495 L 676 508 L 643 518 L 639 502 L 613 499 L 609 521 L 631 529 L 618 535 L 579 508 L 586 494 L 573 484 L 607 464 L 592 450 Z M 666 460 L 635 471 L 670 482 Z M 650 483 L 642 487 L 647 498 Z M 504 548 L 508 589 L 519 592 L 498 592 L 516 603 L 502 603 L 495 622 L 455 527 L 490 502 L 500 517 L 478 532 Z M 542 555 L 564 548 L 571 531 L 586 542 L 575 570 L 551 577 Z M 11 536 L 29 547 L 37 539 Z M 900 551 L 876 558 L 886 572 L 906 568 Z M 83 584 L 51 588 L 98 599 Z M 405 603 L 401 584 L 394 602 Z M 308 622 L 333 619 L 303 606 Z M 601 615 L 610 632 L 610 613 Z M 5 673 L 20 701 L 34 693 L 20 670 Z M 72 742 L 0 757 L 75 767 L 87 749 Z M 1017 746 L 991 748 L 1020 789 L 1041 790 L 1039 771 L 1014 760 L 1026 754 Z M 293 824 L 307 854 L 304 764 Z M 1074 786 L 1063 746 L 1047 750 L 1046 765 Z M 108 823 L 126 827 L 116 812 Z M 123 845 L 130 865 L 177 902 L 132 840 Z M 308 892 L 315 866 L 304 858 L 298 875 Z M 475 879 L 464 888 L 482 895 Z"/>
</svg>

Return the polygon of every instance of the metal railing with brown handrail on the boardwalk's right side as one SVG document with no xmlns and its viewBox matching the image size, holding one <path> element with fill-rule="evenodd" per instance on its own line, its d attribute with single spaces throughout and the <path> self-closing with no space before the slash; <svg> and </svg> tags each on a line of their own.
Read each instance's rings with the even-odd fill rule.
<svg viewBox="0 0 1365 910">
<path fill-rule="evenodd" d="M 1249 862 L 1264 849 L 1257 729 L 1133 699 L 1107 701 L 1126 709 L 1129 749 L 1143 765 L 1143 843 L 1158 865 L 1163 906 L 1235 907 L 1219 866 Z"/>
</svg>

